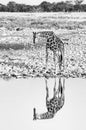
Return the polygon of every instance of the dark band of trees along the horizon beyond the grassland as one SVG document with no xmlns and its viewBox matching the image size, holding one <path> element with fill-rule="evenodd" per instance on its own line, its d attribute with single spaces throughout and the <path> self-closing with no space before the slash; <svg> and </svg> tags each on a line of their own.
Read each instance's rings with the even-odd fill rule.
<svg viewBox="0 0 86 130">
<path fill-rule="evenodd" d="M 75 0 L 75 4 L 71 1 L 58 3 L 43 1 L 37 6 L 31 6 L 10 1 L 7 5 L 0 4 L 0 12 L 85 12 L 86 4 L 82 2 L 83 0 Z"/>
</svg>

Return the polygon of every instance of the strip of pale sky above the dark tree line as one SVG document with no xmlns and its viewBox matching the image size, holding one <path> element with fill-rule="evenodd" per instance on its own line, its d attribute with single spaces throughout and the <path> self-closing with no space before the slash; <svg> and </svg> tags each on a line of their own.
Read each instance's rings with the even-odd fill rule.
<svg viewBox="0 0 86 130">
<path fill-rule="evenodd" d="M 0 3 L 7 4 L 9 1 L 15 1 L 16 3 L 23 3 L 28 5 L 38 5 L 42 1 L 48 1 L 48 2 L 59 2 L 59 1 L 65 1 L 65 0 L 0 0 Z M 86 0 L 84 0 L 84 3 L 86 3 Z"/>
</svg>

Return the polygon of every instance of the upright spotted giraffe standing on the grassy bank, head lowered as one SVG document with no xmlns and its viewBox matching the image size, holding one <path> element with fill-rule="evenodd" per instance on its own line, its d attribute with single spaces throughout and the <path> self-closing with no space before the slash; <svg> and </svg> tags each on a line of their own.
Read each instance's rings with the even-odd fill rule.
<svg viewBox="0 0 86 130">
<path fill-rule="evenodd" d="M 64 43 L 62 40 L 55 35 L 53 31 L 41 31 L 41 32 L 33 32 L 34 38 L 37 38 L 36 35 L 39 37 L 46 39 L 46 68 L 48 63 L 48 49 L 53 52 L 53 61 L 56 70 L 56 56 L 58 52 L 58 63 L 59 63 L 59 70 L 61 72 L 61 67 L 63 64 L 64 68 Z M 35 40 L 34 40 L 35 43 Z"/>
</svg>

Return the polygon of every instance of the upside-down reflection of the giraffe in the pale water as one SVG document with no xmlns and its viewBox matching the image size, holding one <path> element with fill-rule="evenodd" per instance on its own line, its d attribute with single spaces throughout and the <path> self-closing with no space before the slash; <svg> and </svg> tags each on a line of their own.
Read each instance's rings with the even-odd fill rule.
<svg viewBox="0 0 86 130">
<path fill-rule="evenodd" d="M 53 89 L 53 98 L 49 99 L 49 90 L 47 85 L 47 79 L 45 79 L 46 83 L 46 107 L 47 112 L 43 114 L 37 114 L 36 109 L 34 108 L 34 120 L 41 119 L 52 119 L 55 114 L 63 107 L 65 102 L 64 89 L 65 89 L 65 79 L 63 79 L 63 85 L 61 82 L 61 77 L 59 78 L 58 89 L 56 90 L 56 78 Z"/>
</svg>

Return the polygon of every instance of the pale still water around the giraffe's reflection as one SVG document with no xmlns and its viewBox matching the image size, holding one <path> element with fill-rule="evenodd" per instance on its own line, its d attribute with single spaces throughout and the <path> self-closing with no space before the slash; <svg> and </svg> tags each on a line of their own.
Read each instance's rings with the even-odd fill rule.
<svg viewBox="0 0 86 130">
<path fill-rule="evenodd" d="M 58 80 L 58 79 L 57 79 Z M 52 90 L 53 79 L 49 79 Z M 51 93 L 52 95 L 52 93 Z M 50 120 L 33 121 L 33 108 L 46 112 L 44 78 L 0 80 L 1 130 L 86 130 L 86 80 L 65 80 L 65 104 Z"/>
</svg>

